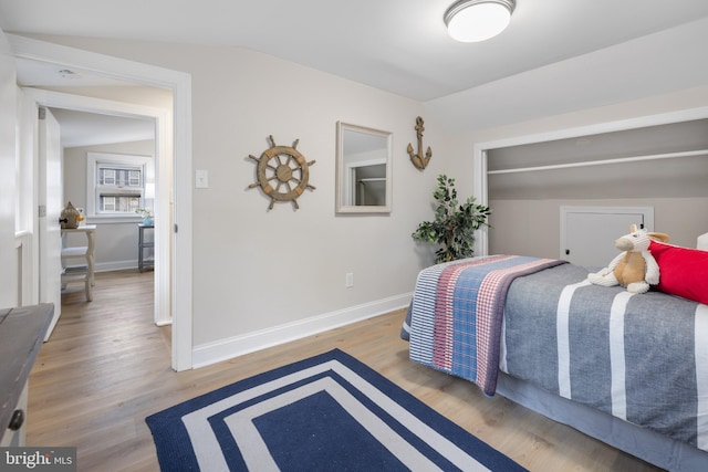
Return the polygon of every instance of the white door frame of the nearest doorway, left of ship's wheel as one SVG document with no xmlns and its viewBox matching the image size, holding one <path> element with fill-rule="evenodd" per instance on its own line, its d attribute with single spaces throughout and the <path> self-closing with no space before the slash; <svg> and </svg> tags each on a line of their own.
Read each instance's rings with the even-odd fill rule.
<svg viewBox="0 0 708 472">
<path fill-rule="evenodd" d="M 91 71 L 96 75 L 121 81 L 139 83 L 147 86 L 168 88 L 173 92 L 171 126 L 159 133 L 166 155 L 171 155 L 171 182 L 159 186 L 158 210 L 162 218 L 164 244 L 169 261 L 169 271 L 162 281 L 163 287 L 171 290 L 169 307 L 171 312 L 171 367 L 180 371 L 192 368 L 192 276 L 191 276 L 191 76 L 187 73 L 157 67 L 118 57 L 62 46 L 30 38 L 7 34 L 17 57 L 31 59 Z M 44 91 L 46 92 L 46 91 Z M 60 94 L 67 95 L 67 94 Z M 69 95 L 76 99 L 75 95 Z M 64 97 L 66 98 L 66 97 Z M 108 101 L 102 101 L 107 105 Z M 123 104 L 129 107 L 128 104 Z M 48 106 L 71 107 L 53 103 Z M 75 106 L 75 105 L 74 105 Z M 88 105 L 86 105 L 88 106 Z M 147 107 L 140 107 L 144 113 Z M 135 109 L 134 109 L 135 112 Z M 136 113 L 140 115 L 140 113 Z M 159 113 L 158 113 L 159 115 Z M 162 119 L 160 119 L 162 118 Z M 158 123 L 167 123 L 165 116 L 157 117 Z M 170 153 L 171 150 L 171 153 Z M 159 164 L 158 164 L 159 166 Z M 159 219 L 156 220 L 159 224 Z M 157 229 L 156 229 L 157 230 Z M 171 237 L 171 238 L 170 238 Z M 156 231 L 156 238 L 160 238 Z M 163 256 L 162 254 L 157 255 Z"/>
</svg>

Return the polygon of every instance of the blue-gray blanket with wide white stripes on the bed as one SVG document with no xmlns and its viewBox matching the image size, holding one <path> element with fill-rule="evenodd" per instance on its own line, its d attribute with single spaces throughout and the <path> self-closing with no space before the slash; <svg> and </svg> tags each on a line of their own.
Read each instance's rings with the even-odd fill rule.
<svg viewBox="0 0 708 472">
<path fill-rule="evenodd" d="M 564 264 L 513 283 L 501 370 L 708 451 L 708 306 L 586 276 Z"/>
</svg>

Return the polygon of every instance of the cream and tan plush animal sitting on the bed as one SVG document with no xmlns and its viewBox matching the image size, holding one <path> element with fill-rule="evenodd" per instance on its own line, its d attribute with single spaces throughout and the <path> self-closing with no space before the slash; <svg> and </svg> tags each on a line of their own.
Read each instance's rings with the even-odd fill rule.
<svg viewBox="0 0 708 472">
<path fill-rule="evenodd" d="M 659 266 L 649 252 L 652 240 L 667 242 L 668 235 L 638 230 L 632 224 L 629 234 L 615 241 L 615 248 L 624 252 L 602 271 L 587 274 L 587 280 L 595 285 L 622 285 L 627 292 L 646 293 L 649 285 L 659 283 Z"/>
</svg>

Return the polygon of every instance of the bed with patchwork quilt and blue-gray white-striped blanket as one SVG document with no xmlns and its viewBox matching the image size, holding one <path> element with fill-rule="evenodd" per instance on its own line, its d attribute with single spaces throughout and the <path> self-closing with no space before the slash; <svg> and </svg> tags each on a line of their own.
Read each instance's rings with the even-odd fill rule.
<svg viewBox="0 0 708 472">
<path fill-rule="evenodd" d="M 418 275 L 410 359 L 671 471 L 708 470 L 708 305 L 492 255 Z"/>
</svg>

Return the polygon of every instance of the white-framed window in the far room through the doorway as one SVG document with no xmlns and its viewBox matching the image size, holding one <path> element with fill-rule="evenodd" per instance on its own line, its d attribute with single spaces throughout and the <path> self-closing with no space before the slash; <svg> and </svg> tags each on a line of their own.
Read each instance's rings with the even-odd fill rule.
<svg viewBox="0 0 708 472">
<path fill-rule="evenodd" d="M 152 207 L 145 196 L 153 177 L 153 159 L 146 156 L 87 154 L 88 217 L 135 217 L 135 210 Z"/>
</svg>

